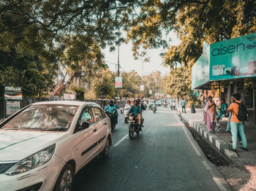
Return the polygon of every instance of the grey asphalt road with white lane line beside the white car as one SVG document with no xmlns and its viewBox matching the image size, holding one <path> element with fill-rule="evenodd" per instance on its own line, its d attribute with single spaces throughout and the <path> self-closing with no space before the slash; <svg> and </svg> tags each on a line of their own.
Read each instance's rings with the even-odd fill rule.
<svg viewBox="0 0 256 191">
<path fill-rule="evenodd" d="M 176 112 L 143 112 L 145 128 L 130 140 L 124 117 L 108 159 L 94 158 L 75 176 L 75 190 L 229 190 Z"/>
</svg>

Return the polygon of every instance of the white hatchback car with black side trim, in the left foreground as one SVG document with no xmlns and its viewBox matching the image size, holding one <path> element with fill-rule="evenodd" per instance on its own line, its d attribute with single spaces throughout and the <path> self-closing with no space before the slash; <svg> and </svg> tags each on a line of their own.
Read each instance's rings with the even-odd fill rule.
<svg viewBox="0 0 256 191">
<path fill-rule="evenodd" d="M 0 190 L 72 190 L 76 173 L 108 157 L 110 120 L 81 101 L 31 104 L 0 123 Z"/>
</svg>

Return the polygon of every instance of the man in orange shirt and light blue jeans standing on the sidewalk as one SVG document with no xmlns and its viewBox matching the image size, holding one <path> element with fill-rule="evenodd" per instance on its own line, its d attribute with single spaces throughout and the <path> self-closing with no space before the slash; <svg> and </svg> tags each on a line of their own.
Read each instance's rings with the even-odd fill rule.
<svg viewBox="0 0 256 191">
<path fill-rule="evenodd" d="M 241 122 L 240 120 L 238 120 L 238 117 L 237 117 L 238 108 L 239 108 L 238 104 L 241 104 L 241 101 L 240 101 L 241 95 L 239 93 L 234 93 L 233 98 L 234 98 L 234 102 L 230 104 L 230 107 L 227 109 L 227 113 L 232 112 L 232 116 L 230 118 L 230 125 L 231 125 L 233 148 L 232 149 L 230 148 L 230 150 L 233 152 L 236 152 L 237 136 L 239 131 L 242 144 L 243 144 L 243 147 L 241 147 L 241 149 L 248 151 L 246 136 L 244 134 L 244 122 Z"/>
</svg>

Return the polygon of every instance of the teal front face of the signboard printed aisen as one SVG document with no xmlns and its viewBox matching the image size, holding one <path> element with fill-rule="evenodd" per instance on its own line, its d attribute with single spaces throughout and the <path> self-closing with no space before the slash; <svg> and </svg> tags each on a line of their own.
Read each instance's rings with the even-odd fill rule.
<svg viewBox="0 0 256 191">
<path fill-rule="evenodd" d="M 209 71 L 210 80 L 256 77 L 256 33 L 210 44 Z"/>
</svg>

